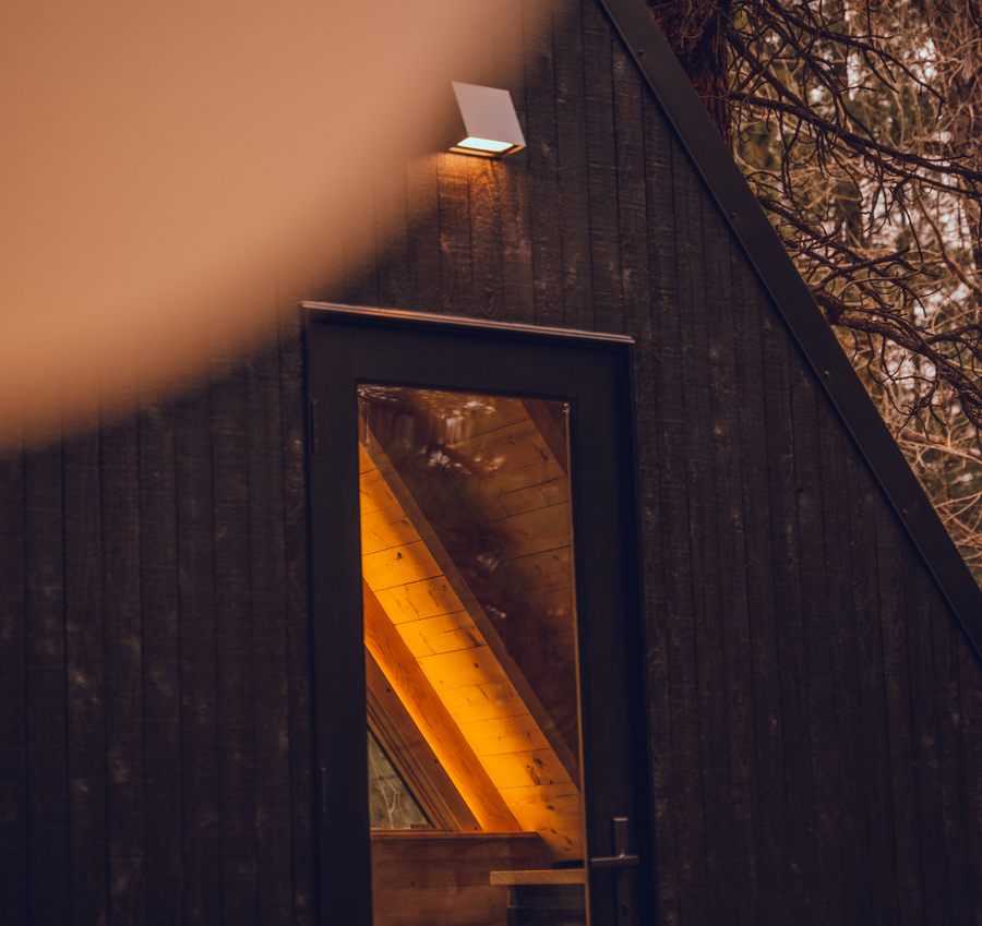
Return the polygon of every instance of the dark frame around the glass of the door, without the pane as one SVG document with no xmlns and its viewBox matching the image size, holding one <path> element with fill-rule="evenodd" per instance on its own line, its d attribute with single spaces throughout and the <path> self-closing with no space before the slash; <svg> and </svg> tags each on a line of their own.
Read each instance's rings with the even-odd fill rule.
<svg viewBox="0 0 982 926">
<path fill-rule="evenodd" d="M 320 918 L 371 926 L 358 494 L 359 383 L 571 404 L 584 814 L 594 926 L 654 922 L 633 341 L 304 303 Z M 612 820 L 630 818 L 633 868 Z M 615 840 L 616 843 L 615 844 Z M 630 898 L 625 916 L 622 903 Z"/>
</svg>

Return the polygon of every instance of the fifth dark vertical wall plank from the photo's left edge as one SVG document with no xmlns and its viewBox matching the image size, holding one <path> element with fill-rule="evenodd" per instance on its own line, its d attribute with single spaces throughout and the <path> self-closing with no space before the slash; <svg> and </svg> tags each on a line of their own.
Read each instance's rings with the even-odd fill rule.
<svg viewBox="0 0 982 926">
<path fill-rule="evenodd" d="M 167 405 L 145 408 L 140 418 L 137 440 L 145 870 L 148 873 L 146 922 L 153 926 L 179 926 L 182 922 L 183 869 L 173 407 Z"/>
</svg>

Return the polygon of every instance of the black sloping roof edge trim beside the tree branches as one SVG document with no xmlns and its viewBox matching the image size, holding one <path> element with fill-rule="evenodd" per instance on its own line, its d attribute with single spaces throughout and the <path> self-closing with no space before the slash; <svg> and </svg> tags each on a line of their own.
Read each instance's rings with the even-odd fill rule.
<svg viewBox="0 0 982 926">
<path fill-rule="evenodd" d="M 599 0 L 873 476 L 982 658 L 982 589 L 643 0 Z"/>
</svg>

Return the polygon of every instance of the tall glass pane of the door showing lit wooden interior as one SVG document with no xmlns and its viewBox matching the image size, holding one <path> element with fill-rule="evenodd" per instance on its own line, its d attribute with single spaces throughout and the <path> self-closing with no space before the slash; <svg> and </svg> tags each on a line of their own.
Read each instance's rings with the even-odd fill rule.
<svg viewBox="0 0 982 926">
<path fill-rule="evenodd" d="M 359 409 L 374 922 L 586 924 L 568 409 Z"/>
</svg>

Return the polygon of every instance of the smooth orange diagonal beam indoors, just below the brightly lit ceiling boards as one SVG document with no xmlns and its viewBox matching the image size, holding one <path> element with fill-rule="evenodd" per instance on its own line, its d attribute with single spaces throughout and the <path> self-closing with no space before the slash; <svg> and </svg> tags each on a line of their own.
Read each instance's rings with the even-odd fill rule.
<svg viewBox="0 0 982 926">
<path fill-rule="evenodd" d="M 454 786 L 467 802 L 481 829 L 487 832 L 520 832 L 522 827 L 491 783 L 440 696 L 417 665 L 375 593 L 363 579 L 361 587 L 364 602 L 364 645 L 406 706 Z"/>
</svg>

